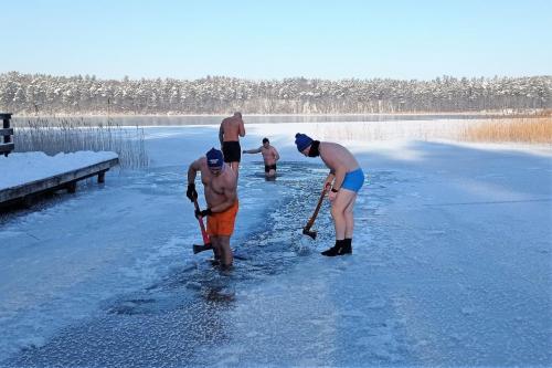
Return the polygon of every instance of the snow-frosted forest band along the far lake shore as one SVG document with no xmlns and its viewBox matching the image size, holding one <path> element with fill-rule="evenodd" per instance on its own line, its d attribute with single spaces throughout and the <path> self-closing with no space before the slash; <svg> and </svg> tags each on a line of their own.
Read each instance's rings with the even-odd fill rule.
<svg viewBox="0 0 552 368">
<path fill-rule="evenodd" d="M 20 115 L 511 112 L 551 108 L 551 90 L 552 76 L 117 81 L 10 72 L 0 74 L 0 111 Z"/>
</svg>

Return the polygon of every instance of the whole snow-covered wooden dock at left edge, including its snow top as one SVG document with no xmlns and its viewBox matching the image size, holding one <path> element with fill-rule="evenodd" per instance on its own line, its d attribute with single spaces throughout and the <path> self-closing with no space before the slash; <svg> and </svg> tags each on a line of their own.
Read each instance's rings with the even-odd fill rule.
<svg viewBox="0 0 552 368">
<path fill-rule="evenodd" d="M 12 154 L 0 160 L 4 175 L 0 178 L 0 208 L 18 202 L 31 202 L 38 196 L 66 189 L 75 192 L 79 180 L 98 177 L 118 165 L 114 153 L 79 151 L 50 157 L 43 153 Z"/>
</svg>

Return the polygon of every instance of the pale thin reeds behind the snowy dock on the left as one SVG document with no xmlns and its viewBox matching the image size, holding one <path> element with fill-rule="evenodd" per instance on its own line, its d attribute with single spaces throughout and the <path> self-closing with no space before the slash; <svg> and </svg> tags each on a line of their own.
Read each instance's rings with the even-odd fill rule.
<svg viewBox="0 0 552 368">
<path fill-rule="evenodd" d="M 89 125 L 82 118 L 30 118 L 14 127 L 15 151 L 43 151 L 46 155 L 79 150 L 114 151 L 123 168 L 147 167 L 144 129 L 121 127 L 110 119 Z"/>
</svg>

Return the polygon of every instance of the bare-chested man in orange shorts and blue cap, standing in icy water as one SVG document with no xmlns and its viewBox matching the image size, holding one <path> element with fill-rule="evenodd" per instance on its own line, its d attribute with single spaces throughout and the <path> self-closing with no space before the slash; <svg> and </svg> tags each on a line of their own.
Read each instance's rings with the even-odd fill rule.
<svg viewBox="0 0 552 368">
<path fill-rule="evenodd" d="M 236 172 L 224 164 L 222 153 L 211 148 L 205 157 L 193 161 L 188 168 L 188 191 L 185 196 L 193 202 L 198 198 L 195 176 L 201 172 L 205 191 L 206 210 L 197 211 L 195 217 L 208 217 L 208 233 L 211 238 L 215 260 L 225 269 L 232 266 L 233 254 L 230 236 L 234 232 L 237 214 Z"/>
</svg>

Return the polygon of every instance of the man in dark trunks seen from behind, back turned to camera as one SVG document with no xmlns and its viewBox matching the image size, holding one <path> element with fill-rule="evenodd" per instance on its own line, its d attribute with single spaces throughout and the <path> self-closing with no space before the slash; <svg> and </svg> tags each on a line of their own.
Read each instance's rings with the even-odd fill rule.
<svg viewBox="0 0 552 368">
<path fill-rule="evenodd" d="M 240 170 L 240 161 L 242 159 L 242 148 L 240 147 L 240 138 L 245 136 L 245 126 L 242 119 L 242 113 L 234 113 L 234 116 L 226 117 L 221 123 L 219 129 L 219 140 L 221 149 L 224 154 L 224 162 L 229 164 L 232 170 L 236 174 Z"/>
</svg>

